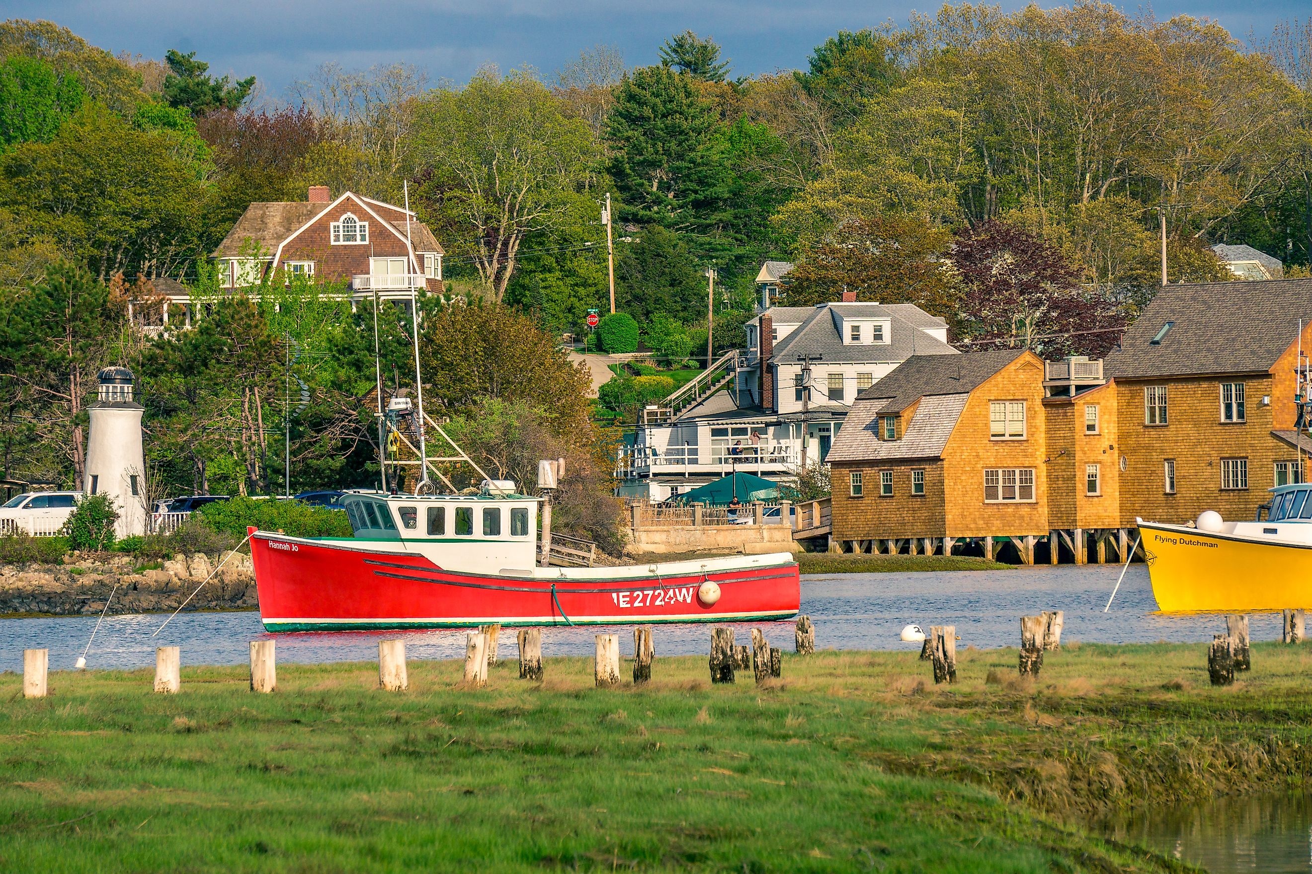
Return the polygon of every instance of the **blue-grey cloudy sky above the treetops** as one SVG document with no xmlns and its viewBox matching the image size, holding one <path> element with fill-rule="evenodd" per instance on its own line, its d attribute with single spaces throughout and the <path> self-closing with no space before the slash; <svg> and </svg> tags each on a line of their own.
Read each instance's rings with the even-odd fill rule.
<svg viewBox="0 0 1312 874">
<path fill-rule="evenodd" d="M 463 81 L 482 64 L 530 64 L 546 75 L 605 43 L 630 66 L 653 63 L 672 33 L 712 35 L 733 75 L 804 66 L 840 29 L 857 30 L 935 3 L 913 0 L 4 0 L 5 17 L 52 20 L 110 51 L 163 58 L 195 51 L 211 71 L 255 75 L 266 96 L 324 62 L 346 68 L 407 62 L 432 80 Z M 1002 0 L 1014 9 L 1018 0 Z M 1043 3 L 1042 5 L 1055 5 Z M 1138 4 L 1128 5 L 1132 12 Z M 1161 0 L 1160 18 L 1211 17 L 1239 38 L 1266 35 L 1277 21 L 1305 18 L 1312 0 Z"/>
</svg>

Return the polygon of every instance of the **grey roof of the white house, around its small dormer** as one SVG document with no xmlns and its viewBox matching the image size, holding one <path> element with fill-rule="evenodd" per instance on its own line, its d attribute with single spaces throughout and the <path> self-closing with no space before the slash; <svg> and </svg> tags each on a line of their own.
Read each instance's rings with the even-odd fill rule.
<svg viewBox="0 0 1312 874">
<path fill-rule="evenodd" d="M 945 322 L 913 304 L 837 304 L 837 307 L 842 307 L 842 312 L 854 318 L 888 318 L 891 342 L 844 345 L 834 324 L 834 304 L 823 304 L 815 307 L 807 321 L 775 343 L 774 360 L 796 362 L 802 360 L 803 355 L 811 355 L 819 356 L 823 362 L 903 362 L 912 355 L 959 354 L 947 343 L 921 330 L 921 328 L 943 326 Z"/>
</svg>

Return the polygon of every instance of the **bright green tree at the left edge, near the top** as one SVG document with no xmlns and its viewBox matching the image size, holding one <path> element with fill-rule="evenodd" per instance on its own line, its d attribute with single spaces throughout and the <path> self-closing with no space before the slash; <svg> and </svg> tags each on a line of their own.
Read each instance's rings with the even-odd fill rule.
<svg viewBox="0 0 1312 874">
<path fill-rule="evenodd" d="M 13 55 L 0 63 L 0 149 L 49 143 L 85 100 L 72 73 L 43 60 Z"/>
</svg>

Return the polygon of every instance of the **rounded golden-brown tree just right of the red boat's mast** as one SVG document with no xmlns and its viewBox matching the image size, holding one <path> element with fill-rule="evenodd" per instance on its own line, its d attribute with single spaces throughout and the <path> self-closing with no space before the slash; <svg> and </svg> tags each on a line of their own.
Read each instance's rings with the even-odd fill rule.
<svg viewBox="0 0 1312 874">
<path fill-rule="evenodd" d="M 493 397 L 541 410 L 558 435 L 588 425 L 586 370 L 569 363 L 555 335 L 505 307 L 457 305 L 429 313 L 420 358 L 425 377 L 433 380 L 424 400 L 445 415 L 463 415 Z"/>
</svg>

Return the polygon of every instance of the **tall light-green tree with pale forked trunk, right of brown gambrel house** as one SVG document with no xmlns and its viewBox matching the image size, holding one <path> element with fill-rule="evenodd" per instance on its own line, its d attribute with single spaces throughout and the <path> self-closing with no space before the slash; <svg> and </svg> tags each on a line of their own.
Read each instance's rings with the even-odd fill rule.
<svg viewBox="0 0 1312 874">
<path fill-rule="evenodd" d="M 472 259 L 493 303 L 505 297 L 527 235 L 596 210 L 596 140 L 526 72 L 485 68 L 462 90 L 434 92 L 419 138 L 422 204 L 455 240 L 453 254 Z"/>
</svg>

